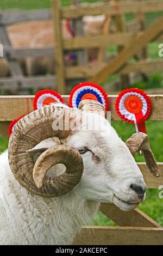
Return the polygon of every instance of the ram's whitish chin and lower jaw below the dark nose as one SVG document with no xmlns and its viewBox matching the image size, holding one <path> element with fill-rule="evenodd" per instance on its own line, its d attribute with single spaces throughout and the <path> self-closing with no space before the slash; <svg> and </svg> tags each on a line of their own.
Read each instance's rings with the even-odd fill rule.
<svg viewBox="0 0 163 256">
<path fill-rule="evenodd" d="M 140 202 L 129 203 L 121 200 L 114 194 L 114 196 L 112 197 L 112 203 L 114 203 L 118 208 L 120 208 L 123 211 L 131 211 L 134 210 L 139 205 Z"/>
</svg>

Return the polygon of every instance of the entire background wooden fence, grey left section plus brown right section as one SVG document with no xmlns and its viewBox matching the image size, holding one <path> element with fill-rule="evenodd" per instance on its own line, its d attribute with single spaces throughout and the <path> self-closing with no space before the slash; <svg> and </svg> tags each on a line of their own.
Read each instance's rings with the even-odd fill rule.
<svg viewBox="0 0 163 256">
<path fill-rule="evenodd" d="M 141 26 L 141 22 L 131 20 L 124 22 L 124 15 L 133 13 L 140 16 L 150 12 L 163 11 L 162 1 L 132 1 L 102 4 L 79 4 L 79 0 L 74 1 L 76 5 L 61 8 L 60 1 L 53 1 L 53 11 L 32 10 L 32 11 L 3 11 L 0 12 L 0 36 L 4 46 L 4 57 L 10 64 L 11 77 L 0 78 L 0 89 L 10 90 L 12 93 L 21 94 L 23 90 L 33 88 L 35 91 L 43 88 L 57 89 L 60 94 L 66 94 L 67 80 L 77 82 L 89 79 L 97 83 L 102 83 L 106 78 L 118 72 L 122 77 L 129 74 L 146 74 L 152 71 L 162 71 L 163 61 L 161 59 L 151 62 L 147 54 L 141 58 L 139 53 L 144 49 L 148 42 L 162 42 L 162 19 L 146 29 Z M 53 14 L 53 15 L 52 15 Z M 84 15 L 105 14 L 115 19 L 116 31 L 109 33 L 108 21 L 103 28 L 102 34 L 84 36 L 82 17 Z M 34 20 L 54 20 L 54 47 L 41 48 L 13 48 L 9 40 L 6 26 L 16 22 Z M 70 19 L 74 21 L 75 36 L 71 39 L 63 39 L 61 35 L 61 20 Z M 123 23 L 123 24 L 122 24 Z M 143 30 L 142 30 L 143 29 Z M 141 30 L 141 31 L 140 31 Z M 140 44 L 141 42 L 141 44 Z M 104 52 L 109 45 L 115 45 L 118 54 L 109 62 L 104 62 L 104 58 L 98 57 L 96 62 L 90 64 L 87 50 L 96 48 Z M 64 52 L 75 51 L 77 54 L 78 65 L 65 66 Z M 55 75 L 48 76 L 23 76 L 18 59 L 27 57 L 52 57 L 55 59 L 57 80 Z M 102 56 L 102 55 L 101 55 Z M 134 56 L 135 62 L 128 62 Z M 137 58 L 138 56 L 138 58 Z M 143 59 L 142 59 L 143 58 Z M 100 59 L 100 61 L 99 61 Z"/>
</svg>

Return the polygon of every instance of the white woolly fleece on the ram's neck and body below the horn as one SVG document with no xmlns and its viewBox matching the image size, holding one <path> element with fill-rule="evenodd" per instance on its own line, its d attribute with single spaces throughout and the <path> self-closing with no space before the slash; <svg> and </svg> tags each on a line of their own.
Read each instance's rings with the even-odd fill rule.
<svg viewBox="0 0 163 256">
<path fill-rule="evenodd" d="M 0 245 L 70 245 L 99 203 L 74 189 L 57 198 L 34 196 L 15 180 L 8 151 L 0 156 Z M 3 168 L 2 168 L 3 167 Z"/>
</svg>

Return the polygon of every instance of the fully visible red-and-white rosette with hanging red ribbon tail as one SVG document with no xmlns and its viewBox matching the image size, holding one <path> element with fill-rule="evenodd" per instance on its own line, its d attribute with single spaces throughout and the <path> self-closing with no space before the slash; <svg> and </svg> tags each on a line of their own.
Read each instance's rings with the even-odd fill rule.
<svg viewBox="0 0 163 256">
<path fill-rule="evenodd" d="M 143 90 L 137 88 L 123 90 L 117 97 L 115 107 L 124 121 L 135 124 L 137 132 L 146 133 L 145 120 L 151 114 L 151 101 Z"/>
</svg>

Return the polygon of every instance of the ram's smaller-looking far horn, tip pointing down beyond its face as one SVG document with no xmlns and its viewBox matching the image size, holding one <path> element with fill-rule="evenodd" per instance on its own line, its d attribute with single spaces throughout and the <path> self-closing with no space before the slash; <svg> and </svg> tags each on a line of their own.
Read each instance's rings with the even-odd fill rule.
<svg viewBox="0 0 163 256">
<path fill-rule="evenodd" d="M 150 148 L 148 136 L 146 135 L 146 133 L 143 133 L 143 132 L 134 133 L 129 139 L 127 139 L 126 145 L 133 156 L 135 156 L 137 151 L 142 150 L 146 160 L 147 167 L 150 170 L 150 172 L 155 177 L 160 176 L 159 169 L 156 164 L 152 150 Z"/>
</svg>

